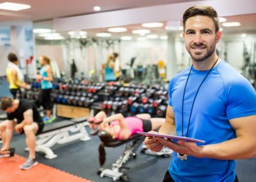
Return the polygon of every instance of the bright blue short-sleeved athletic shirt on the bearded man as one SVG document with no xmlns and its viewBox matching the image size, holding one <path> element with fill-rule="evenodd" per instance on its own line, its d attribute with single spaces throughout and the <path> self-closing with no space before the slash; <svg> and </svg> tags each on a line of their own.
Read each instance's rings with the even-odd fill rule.
<svg viewBox="0 0 256 182">
<path fill-rule="evenodd" d="M 189 68 L 181 71 L 170 80 L 169 105 L 173 107 L 176 134 L 181 136 L 181 108 L 184 86 Z M 192 68 L 184 96 L 184 136 L 187 135 L 189 115 L 195 93 L 208 71 Z M 195 99 L 187 137 L 197 138 L 206 143 L 198 146 L 221 143 L 236 138 L 229 119 L 256 114 L 256 93 L 252 84 L 224 60 L 215 66 L 200 87 Z M 235 160 L 196 158 L 189 156 L 181 161 L 173 153 L 169 172 L 174 181 L 230 181 L 236 177 Z"/>
</svg>

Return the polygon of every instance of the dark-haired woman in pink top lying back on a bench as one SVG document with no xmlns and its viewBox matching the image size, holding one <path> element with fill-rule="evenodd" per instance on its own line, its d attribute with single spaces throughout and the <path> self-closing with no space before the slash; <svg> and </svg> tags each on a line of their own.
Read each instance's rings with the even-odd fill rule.
<svg viewBox="0 0 256 182">
<path fill-rule="evenodd" d="M 100 111 L 96 116 L 89 118 L 88 122 L 92 131 L 97 130 L 93 132 L 94 135 L 99 135 L 102 141 L 99 145 L 99 165 L 102 167 L 105 164 L 104 146 L 117 146 L 121 143 L 116 141 L 129 141 L 128 139 L 136 136 L 138 131 L 158 130 L 165 118 L 151 118 L 149 114 L 124 117 L 121 113 L 107 117 L 104 111 Z"/>
</svg>

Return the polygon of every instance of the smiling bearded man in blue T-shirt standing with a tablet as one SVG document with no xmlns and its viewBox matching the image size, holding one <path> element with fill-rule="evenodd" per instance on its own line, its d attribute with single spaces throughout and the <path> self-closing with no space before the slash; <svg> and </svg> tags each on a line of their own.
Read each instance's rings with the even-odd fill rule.
<svg viewBox="0 0 256 182">
<path fill-rule="evenodd" d="M 214 8 L 194 6 L 183 15 L 192 66 L 170 80 L 165 123 L 159 133 L 206 143 L 147 137 L 152 151 L 175 151 L 164 181 L 238 181 L 235 159 L 256 154 L 256 93 L 216 45 L 222 35 Z"/>
</svg>

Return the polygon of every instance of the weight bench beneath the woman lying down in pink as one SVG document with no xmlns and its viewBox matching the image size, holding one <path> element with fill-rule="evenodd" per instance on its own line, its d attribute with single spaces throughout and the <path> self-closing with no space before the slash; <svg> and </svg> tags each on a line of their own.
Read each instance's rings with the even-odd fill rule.
<svg viewBox="0 0 256 182">
<path fill-rule="evenodd" d="M 116 146 L 121 146 L 123 144 L 126 144 L 124 152 L 121 154 L 121 157 L 119 157 L 115 163 L 112 164 L 112 169 L 104 169 L 104 168 L 100 168 L 98 170 L 98 175 L 100 175 L 100 177 L 104 177 L 107 176 L 109 178 L 113 178 L 113 181 L 116 180 L 121 180 L 121 181 L 129 181 L 129 177 L 127 176 L 127 174 L 121 173 L 120 170 L 122 168 L 124 169 L 129 169 L 129 167 L 124 167 L 124 163 L 127 162 L 127 160 L 129 159 L 129 157 L 133 157 L 134 159 L 137 157 L 136 155 L 136 151 L 138 150 L 138 147 L 140 146 L 141 143 L 143 143 L 145 137 L 143 137 L 142 135 L 132 135 L 131 138 L 125 140 L 125 141 L 118 141 L 118 140 L 113 140 L 113 141 L 104 141 L 102 140 L 102 137 L 99 137 L 102 141 L 102 143 L 104 143 L 104 146 L 106 147 L 116 147 Z"/>
</svg>

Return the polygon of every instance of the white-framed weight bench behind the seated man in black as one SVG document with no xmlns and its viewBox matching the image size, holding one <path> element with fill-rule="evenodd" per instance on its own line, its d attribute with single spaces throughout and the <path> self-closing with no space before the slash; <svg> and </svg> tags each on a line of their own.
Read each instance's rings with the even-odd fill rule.
<svg viewBox="0 0 256 182">
<path fill-rule="evenodd" d="M 86 131 L 86 125 L 88 125 L 87 117 L 83 117 L 64 120 L 45 126 L 38 135 L 36 151 L 42 151 L 45 153 L 45 158 L 53 159 L 57 155 L 50 148 L 56 143 L 64 144 L 78 139 L 81 141 L 90 140 L 91 138 Z M 26 148 L 26 151 L 28 151 L 28 148 Z"/>
</svg>

